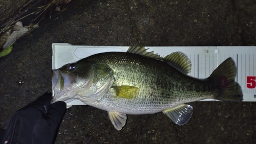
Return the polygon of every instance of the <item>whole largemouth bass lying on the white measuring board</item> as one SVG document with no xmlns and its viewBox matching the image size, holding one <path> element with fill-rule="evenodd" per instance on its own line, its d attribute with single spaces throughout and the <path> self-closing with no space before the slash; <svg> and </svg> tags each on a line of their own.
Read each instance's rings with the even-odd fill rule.
<svg viewBox="0 0 256 144">
<path fill-rule="evenodd" d="M 108 111 L 114 127 L 121 130 L 126 114 L 163 112 L 184 125 L 193 115 L 193 107 L 184 103 L 243 100 L 241 87 L 234 81 L 237 69 L 232 58 L 206 79 L 188 76 L 190 69 L 190 60 L 181 52 L 163 58 L 131 46 L 126 53 L 100 53 L 53 70 L 52 103 L 78 99 Z"/>
</svg>

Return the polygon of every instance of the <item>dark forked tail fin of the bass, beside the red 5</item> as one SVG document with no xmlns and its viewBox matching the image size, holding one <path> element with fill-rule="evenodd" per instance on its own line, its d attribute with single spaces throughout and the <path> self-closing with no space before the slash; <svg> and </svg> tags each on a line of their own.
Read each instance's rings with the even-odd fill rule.
<svg viewBox="0 0 256 144">
<path fill-rule="evenodd" d="M 242 101 L 241 86 L 234 81 L 237 67 L 232 58 L 226 59 L 210 75 L 209 79 L 216 85 L 214 99 L 221 101 Z"/>
</svg>

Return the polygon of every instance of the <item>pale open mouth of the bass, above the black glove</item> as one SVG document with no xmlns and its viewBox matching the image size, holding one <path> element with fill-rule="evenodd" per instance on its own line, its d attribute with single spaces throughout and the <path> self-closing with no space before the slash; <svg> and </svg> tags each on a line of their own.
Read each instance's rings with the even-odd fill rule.
<svg viewBox="0 0 256 144">
<path fill-rule="evenodd" d="M 57 101 L 71 102 L 77 94 L 72 90 L 72 84 L 74 83 L 74 78 L 69 74 L 62 73 L 59 69 L 52 70 L 52 87 L 54 96 L 51 103 Z"/>
</svg>

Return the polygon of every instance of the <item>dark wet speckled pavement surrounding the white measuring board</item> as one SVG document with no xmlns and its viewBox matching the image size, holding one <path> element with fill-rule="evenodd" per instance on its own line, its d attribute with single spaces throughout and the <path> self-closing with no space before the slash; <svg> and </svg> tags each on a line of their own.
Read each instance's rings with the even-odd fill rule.
<svg viewBox="0 0 256 144">
<path fill-rule="evenodd" d="M 74 1 L 23 37 L 0 59 L 0 127 L 51 91 L 52 43 L 72 45 L 256 45 L 251 1 Z M 184 126 L 163 113 L 127 115 L 121 131 L 106 111 L 67 110 L 55 143 L 255 143 L 256 103 L 194 102 Z"/>
</svg>

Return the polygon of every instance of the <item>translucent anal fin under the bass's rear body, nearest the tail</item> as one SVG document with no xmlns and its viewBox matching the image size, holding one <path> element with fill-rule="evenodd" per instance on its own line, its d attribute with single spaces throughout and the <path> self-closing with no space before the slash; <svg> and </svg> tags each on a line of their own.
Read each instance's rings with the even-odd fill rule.
<svg viewBox="0 0 256 144">
<path fill-rule="evenodd" d="M 163 113 L 172 119 L 175 124 L 182 126 L 185 125 L 193 115 L 193 107 L 183 104 L 172 109 L 166 109 Z"/>
</svg>

